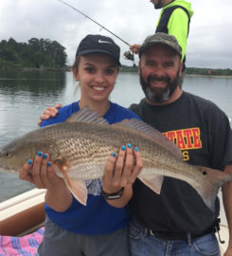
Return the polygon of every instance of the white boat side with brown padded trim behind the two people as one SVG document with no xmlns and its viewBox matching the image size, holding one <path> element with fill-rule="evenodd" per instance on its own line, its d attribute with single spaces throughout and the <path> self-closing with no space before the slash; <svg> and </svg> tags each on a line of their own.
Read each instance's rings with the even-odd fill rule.
<svg viewBox="0 0 232 256">
<path fill-rule="evenodd" d="M 221 193 L 219 197 L 222 199 Z M 220 201 L 222 202 L 222 200 Z M 223 206 L 221 206 L 221 209 L 223 209 Z M 223 210 L 221 210 L 221 217 L 223 221 L 220 225 L 220 237 L 224 243 L 219 244 L 223 255 L 229 240 L 229 232 Z M 44 222 L 45 190 L 33 189 L 0 203 L 0 248 L 1 237 L 10 237 L 10 240 L 12 240 L 12 237 L 23 239 L 41 229 L 44 226 Z M 216 236 L 219 239 L 217 233 Z M 40 241 L 42 241 L 42 236 Z M 9 254 L 1 254 L 0 249 L 0 256 L 2 255 Z"/>
</svg>

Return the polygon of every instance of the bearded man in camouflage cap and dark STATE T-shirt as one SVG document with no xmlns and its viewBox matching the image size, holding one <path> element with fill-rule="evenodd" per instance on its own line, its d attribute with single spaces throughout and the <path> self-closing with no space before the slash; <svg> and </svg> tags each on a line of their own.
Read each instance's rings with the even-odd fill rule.
<svg viewBox="0 0 232 256">
<path fill-rule="evenodd" d="M 160 32 L 147 37 L 139 48 L 139 58 L 140 83 L 146 98 L 130 109 L 170 138 L 187 163 L 232 174 L 229 120 L 213 102 L 178 86 L 183 63 L 175 37 Z M 223 185 L 223 203 L 231 230 L 232 182 Z M 184 181 L 165 176 L 161 193 L 156 194 L 136 179 L 129 208 L 132 256 L 220 255 L 215 236 L 218 197 L 212 212 Z M 226 256 L 232 255 L 230 244 Z"/>
</svg>

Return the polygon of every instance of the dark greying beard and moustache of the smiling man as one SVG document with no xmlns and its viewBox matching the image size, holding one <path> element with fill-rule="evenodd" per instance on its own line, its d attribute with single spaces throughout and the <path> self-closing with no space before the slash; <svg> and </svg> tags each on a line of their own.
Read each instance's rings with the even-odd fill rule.
<svg viewBox="0 0 232 256">
<path fill-rule="evenodd" d="M 170 78 L 168 76 L 162 76 L 159 78 L 156 76 L 149 76 L 148 82 L 146 82 L 142 76 L 142 70 L 140 69 L 140 84 L 142 85 L 142 89 L 146 98 L 153 103 L 162 103 L 164 101 L 169 101 L 170 96 L 173 94 L 178 85 L 178 79 L 179 69 L 172 82 L 170 82 Z M 151 81 L 167 82 L 167 85 L 165 88 L 152 88 Z"/>
</svg>

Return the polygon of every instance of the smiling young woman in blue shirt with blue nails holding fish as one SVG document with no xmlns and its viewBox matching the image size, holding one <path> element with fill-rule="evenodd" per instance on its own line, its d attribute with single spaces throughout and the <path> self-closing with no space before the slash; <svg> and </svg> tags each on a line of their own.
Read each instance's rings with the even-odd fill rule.
<svg viewBox="0 0 232 256">
<path fill-rule="evenodd" d="M 41 126 L 62 122 L 84 106 L 98 111 L 110 124 L 122 119 L 138 119 L 130 110 L 109 101 L 120 66 L 119 53 L 119 47 L 109 37 L 87 35 L 83 38 L 72 67 L 74 78 L 80 82 L 80 101 L 63 106 L 55 118 L 44 120 Z M 83 206 L 55 174 L 49 155 L 39 152 L 33 161 L 29 159 L 20 178 L 34 183 L 37 188 L 47 189 L 45 236 L 38 249 L 39 255 L 130 255 L 128 213 L 121 206 L 132 195 L 132 183 L 141 168 L 138 149 L 133 149 L 130 143 L 122 145 L 118 154 L 113 153 L 106 164 L 104 196 L 101 180 L 92 180 L 87 184 L 87 205 Z M 113 169 L 114 172 L 109 172 Z M 115 194 L 118 208 L 106 201 Z"/>
</svg>

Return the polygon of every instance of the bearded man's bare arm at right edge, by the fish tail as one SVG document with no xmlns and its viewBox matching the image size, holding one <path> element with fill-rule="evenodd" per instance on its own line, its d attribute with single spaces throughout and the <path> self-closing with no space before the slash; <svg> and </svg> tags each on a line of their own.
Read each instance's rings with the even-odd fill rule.
<svg viewBox="0 0 232 256">
<path fill-rule="evenodd" d="M 224 172 L 232 174 L 232 165 L 227 165 Z M 229 244 L 224 256 L 232 256 L 232 181 L 223 184 L 223 207 L 229 229 Z"/>
</svg>

